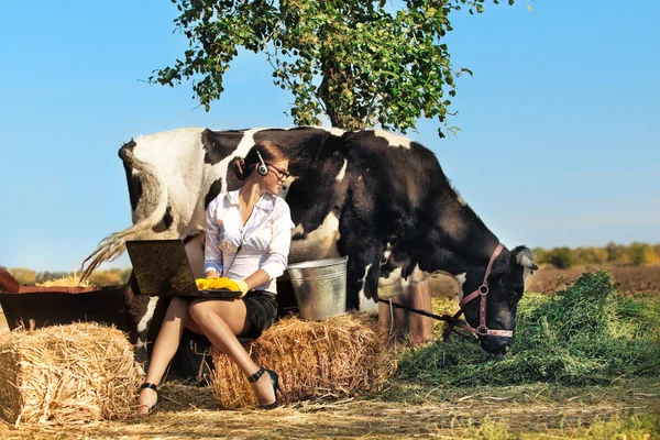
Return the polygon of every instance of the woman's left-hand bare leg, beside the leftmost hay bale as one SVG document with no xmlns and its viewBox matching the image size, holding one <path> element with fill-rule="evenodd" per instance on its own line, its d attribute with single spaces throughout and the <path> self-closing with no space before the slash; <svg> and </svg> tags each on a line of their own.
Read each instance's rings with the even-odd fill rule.
<svg viewBox="0 0 660 440">
<path fill-rule="evenodd" d="M 144 382 L 148 382 L 155 385 L 161 383 L 165 370 L 176 350 L 178 349 L 179 341 L 184 327 L 190 324 L 188 307 L 190 302 L 185 298 L 172 298 L 165 319 L 154 342 L 154 349 L 152 356 L 148 362 L 148 369 L 146 371 L 146 378 Z M 194 326 L 197 327 L 197 326 Z M 140 392 L 138 397 L 138 414 L 146 414 L 148 409 L 156 404 L 156 392 L 151 388 L 144 388 Z"/>
</svg>

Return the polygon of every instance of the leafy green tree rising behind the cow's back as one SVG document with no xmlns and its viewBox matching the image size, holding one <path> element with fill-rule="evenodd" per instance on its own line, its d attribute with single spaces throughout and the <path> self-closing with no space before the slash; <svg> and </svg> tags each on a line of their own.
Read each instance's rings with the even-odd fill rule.
<svg viewBox="0 0 660 440">
<path fill-rule="evenodd" d="M 174 87 L 191 79 L 194 98 L 208 111 L 244 48 L 264 53 L 275 85 L 292 91 L 296 124 L 318 125 L 326 113 L 333 127 L 405 133 L 425 117 L 438 119 L 442 138 L 454 130 L 447 123 L 454 79 L 472 74 L 451 65 L 443 43 L 450 13 L 481 13 L 485 1 L 405 0 L 396 9 L 385 0 L 172 0 L 189 48 L 150 81 Z"/>
</svg>

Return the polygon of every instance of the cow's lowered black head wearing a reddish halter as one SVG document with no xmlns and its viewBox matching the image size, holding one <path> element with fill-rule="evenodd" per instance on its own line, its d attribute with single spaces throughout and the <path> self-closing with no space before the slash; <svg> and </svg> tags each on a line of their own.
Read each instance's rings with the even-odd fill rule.
<svg viewBox="0 0 660 440">
<path fill-rule="evenodd" d="M 512 332 L 516 327 L 516 310 L 518 301 L 525 290 L 525 279 L 538 270 L 534 264 L 531 251 L 525 246 L 518 246 L 512 252 L 503 252 L 493 262 L 493 267 L 487 277 L 487 289 L 476 287 L 485 292 L 485 327 L 483 326 L 482 295 L 475 295 L 474 299 L 463 305 L 465 320 L 476 330 L 481 346 L 492 354 L 506 353 L 513 341 L 513 337 L 503 336 Z M 481 283 L 481 280 L 479 280 Z M 477 283 L 477 286 L 479 286 Z M 475 283 L 463 285 L 463 298 L 466 298 L 475 289 Z"/>
</svg>

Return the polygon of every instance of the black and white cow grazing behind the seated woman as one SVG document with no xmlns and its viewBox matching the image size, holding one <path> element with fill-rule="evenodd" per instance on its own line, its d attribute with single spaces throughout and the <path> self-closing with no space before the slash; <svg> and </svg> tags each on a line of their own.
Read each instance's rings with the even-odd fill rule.
<svg viewBox="0 0 660 440">
<path fill-rule="evenodd" d="M 206 206 L 240 186 L 230 165 L 263 140 L 282 145 L 290 158 L 292 176 L 280 193 L 296 224 L 289 263 L 349 255 L 350 308 L 375 312 L 378 296 L 396 296 L 426 274 L 451 274 L 465 295 L 482 284 L 499 241 L 459 197 L 431 151 L 385 131 L 321 128 L 179 129 L 123 145 L 133 226 L 101 242 L 88 272 L 119 256 L 127 240 L 182 238 L 200 276 Z M 536 268 L 530 258 L 518 246 L 494 261 L 488 328 L 513 330 L 525 278 Z M 129 300 L 144 343 L 157 298 Z M 465 306 L 473 327 L 477 302 Z M 480 339 L 492 353 L 510 343 Z"/>
</svg>

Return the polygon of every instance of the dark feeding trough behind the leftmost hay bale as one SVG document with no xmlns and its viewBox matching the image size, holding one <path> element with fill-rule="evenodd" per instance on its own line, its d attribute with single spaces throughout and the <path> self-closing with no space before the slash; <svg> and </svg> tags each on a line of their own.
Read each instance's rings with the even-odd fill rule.
<svg viewBox="0 0 660 440">
<path fill-rule="evenodd" d="M 0 306 L 10 330 L 94 321 L 129 331 L 127 285 L 106 287 L 22 286 L 0 267 Z"/>
</svg>

